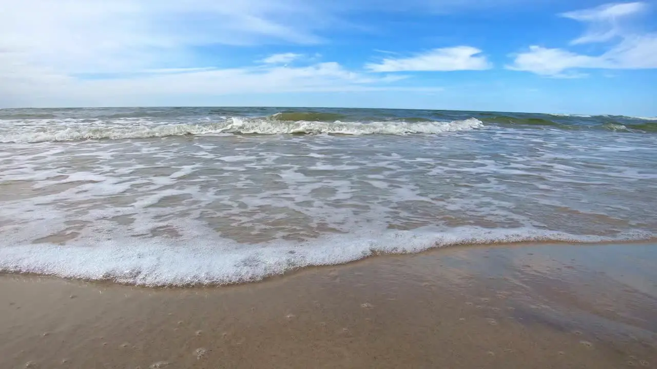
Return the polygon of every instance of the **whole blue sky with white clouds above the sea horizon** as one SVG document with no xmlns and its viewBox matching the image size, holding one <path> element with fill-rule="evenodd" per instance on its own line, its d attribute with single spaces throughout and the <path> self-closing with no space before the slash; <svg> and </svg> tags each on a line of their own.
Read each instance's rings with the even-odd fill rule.
<svg viewBox="0 0 657 369">
<path fill-rule="evenodd" d="M 0 108 L 657 116 L 657 0 L 0 0 Z"/>
</svg>

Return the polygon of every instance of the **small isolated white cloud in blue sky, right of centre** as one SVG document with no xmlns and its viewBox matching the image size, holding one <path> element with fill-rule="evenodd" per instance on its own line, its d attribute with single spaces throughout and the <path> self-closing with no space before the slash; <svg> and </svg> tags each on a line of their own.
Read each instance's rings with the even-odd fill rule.
<svg viewBox="0 0 657 369">
<path fill-rule="evenodd" d="M 481 50 L 470 46 L 445 47 L 410 58 L 385 58 L 380 63 L 366 64 L 373 72 L 486 70 L 491 64 Z"/>
</svg>

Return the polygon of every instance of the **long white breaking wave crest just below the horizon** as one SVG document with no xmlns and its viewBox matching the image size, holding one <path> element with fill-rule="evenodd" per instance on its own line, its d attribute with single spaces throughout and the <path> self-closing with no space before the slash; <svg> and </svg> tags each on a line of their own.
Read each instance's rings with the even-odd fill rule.
<svg viewBox="0 0 657 369">
<path fill-rule="evenodd" d="M 279 118 L 279 119 L 276 119 Z M 13 125 L 0 131 L 0 142 L 58 142 L 101 139 L 143 139 L 182 135 L 210 134 L 337 134 L 337 135 L 413 135 L 468 131 L 484 127 L 474 118 L 457 121 L 374 121 L 369 123 L 342 121 L 289 121 L 281 116 L 266 118 L 230 118 L 225 121 L 203 124 L 173 123 L 106 123 L 88 125 Z M 291 117 L 288 117 L 291 118 Z"/>
</svg>

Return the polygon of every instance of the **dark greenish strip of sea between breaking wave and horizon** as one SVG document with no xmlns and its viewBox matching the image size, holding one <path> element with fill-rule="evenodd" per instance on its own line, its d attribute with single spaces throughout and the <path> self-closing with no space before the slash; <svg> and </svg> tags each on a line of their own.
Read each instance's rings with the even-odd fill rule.
<svg viewBox="0 0 657 369">
<path fill-rule="evenodd" d="M 353 108 L 67 108 L 67 109 L 1 109 L 0 119 L 22 121 L 27 125 L 64 119 L 72 123 L 84 121 L 102 127 L 106 123 L 129 123 L 135 119 L 152 119 L 152 123 L 222 123 L 226 119 L 267 119 L 279 122 L 405 122 L 430 123 L 474 118 L 485 125 L 502 127 L 557 127 L 561 129 L 600 129 L 614 132 L 654 133 L 657 118 L 625 116 L 583 116 L 560 114 L 465 112 L 450 110 L 399 110 Z M 126 121 L 122 121 L 125 119 Z M 0 142 L 2 133 L 0 130 Z M 321 130 L 320 130 L 321 131 Z M 330 128 L 328 129 L 330 131 Z M 272 133 L 266 131 L 265 133 Z M 274 131 L 276 133 L 276 131 Z M 285 133 L 284 129 L 281 133 Z M 316 133 L 316 132 L 309 132 Z M 413 132 L 408 132 L 413 133 Z M 358 134 L 354 132 L 353 134 Z M 28 138 L 25 138 L 28 140 Z M 7 139 L 5 139 L 7 141 Z"/>
</svg>

